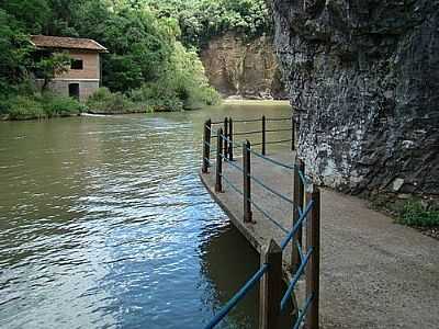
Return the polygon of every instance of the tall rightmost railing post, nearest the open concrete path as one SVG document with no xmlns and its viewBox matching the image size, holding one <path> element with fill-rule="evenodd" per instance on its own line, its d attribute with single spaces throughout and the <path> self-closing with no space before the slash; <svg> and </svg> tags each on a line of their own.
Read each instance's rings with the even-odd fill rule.
<svg viewBox="0 0 439 329">
<path fill-rule="evenodd" d="M 306 314 L 306 328 L 318 329 L 318 299 L 320 273 L 320 190 L 314 189 L 307 195 L 313 201 L 311 216 L 306 224 L 306 248 L 313 247 L 313 253 L 306 266 L 306 295 L 314 296 Z"/>
</svg>

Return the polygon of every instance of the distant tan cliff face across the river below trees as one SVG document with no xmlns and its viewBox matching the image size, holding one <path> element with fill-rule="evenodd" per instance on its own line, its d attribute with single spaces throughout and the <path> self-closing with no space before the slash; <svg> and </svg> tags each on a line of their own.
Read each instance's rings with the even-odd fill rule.
<svg viewBox="0 0 439 329">
<path fill-rule="evenodd" d="M 224 97 L 286 99 L 270 37 L 246 42 L 228 33 L 202 50 L 206 76 Z"/>
</svg>

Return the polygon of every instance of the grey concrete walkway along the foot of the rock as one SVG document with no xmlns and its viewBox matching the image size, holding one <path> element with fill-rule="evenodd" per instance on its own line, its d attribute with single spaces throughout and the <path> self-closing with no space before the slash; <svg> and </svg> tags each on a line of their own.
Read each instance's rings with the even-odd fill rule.
<svg viewBox="0 0 439 329">
<path fill-rule="evenodd" d="M 271 155 L 292 163 L 291 152 Z M 241 166 L 240 160 L 235 162 Z M 252 174 L 292 197 L 293 175 L 252 156 Z M 284 232 L 254 208 L 256 224 L 243 223 L 243 198 L 226 182 L 214 192 L 214 167 L 201 174 L 207 190 L 243 235 L 260 250 Z M 224 163 L 224 174 L 239 190 L 243 177 Z M 286 228 L 292 207 L 252 183 L 252 198 Z M 284 254 L 285 269 L 290 250 Z M 322 328 L 439 328 L 439 241 L 396 225 L 367 203 L 329 190 L 322 194 Z"/>
</svg>

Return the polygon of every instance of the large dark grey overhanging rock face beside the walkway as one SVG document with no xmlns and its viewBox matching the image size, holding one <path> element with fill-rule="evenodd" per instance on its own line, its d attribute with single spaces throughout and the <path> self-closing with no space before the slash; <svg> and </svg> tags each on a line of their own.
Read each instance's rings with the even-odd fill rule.
<svg viewBox="0 0 439 329">
<path fill-rule="evenodd" d="M 272 8 L 308 173 L 350 193 L 439 194 L 439 1 Z"/>
</svg>

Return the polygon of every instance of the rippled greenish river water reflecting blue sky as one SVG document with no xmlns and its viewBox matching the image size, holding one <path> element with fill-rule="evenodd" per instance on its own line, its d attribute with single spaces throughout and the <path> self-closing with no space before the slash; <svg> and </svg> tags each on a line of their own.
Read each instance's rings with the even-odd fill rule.
<svg viewBox="0 0 439 329">
<path fill-rule="evenodd" d="M 202 328 L 259 266 L 198 178 L 202 123 L 262 114 L 290 110 L 0 123 L 0 328 Z"/>
</svg>

